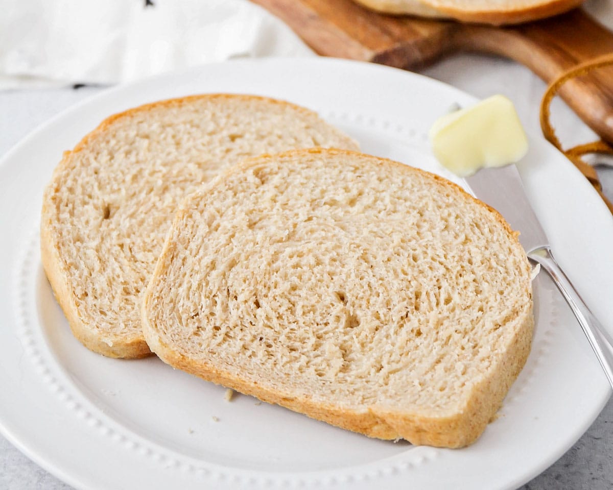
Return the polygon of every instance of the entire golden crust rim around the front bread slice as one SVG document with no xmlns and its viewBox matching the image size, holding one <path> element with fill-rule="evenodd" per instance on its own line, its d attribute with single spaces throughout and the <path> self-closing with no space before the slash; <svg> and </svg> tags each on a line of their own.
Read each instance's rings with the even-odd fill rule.
<svg viewBox="0 0 613 490">
<path fill-rule="evenodd" d="M 301 154 L 340 154 L 344 156 L 362 156 L 362 154 L 340 149 L 321 149 L 311 148 L 304 150 L 293 150 L 278 154 L 278 157 L 299 156 Z M 270 155 L 263 155 L 253 159 L 245 160 L 242 164 L 227 170 L 223 173 L 217 183 L 223 183 L 224 177 L 240 173 L 250 167 L 257 167 L 267 161 Z M 394 160 L 372 157 L 378 160 L 379 165 L 396 165 L 400 168 L 407 168 L 406 165 L 395 162 Z M 466 198 L 477 203 L 479 206 L 487 208 L 492 213 L 493 219 L 499 222 L 517 247 L 522 249 L 519 243 L 519 233 L 514 232 L 509 227 L 503 217 L 485 203 L 474 198 L 462 187 L 457 186 L 441 176 L 430 172 L 417 170 L 422 175 L 434 179 L 437 183 L 460 192 Z M 181 206 L 175 224 L 178 224 L 183 215 L 188 212 L 185 206 Z M 174 225 L 173 225 L 174 226 Z M 522 249 L 523 250 L 523 249 Z M 296 397 L 291 393 L 281 391 L 270 391 L 257 383 L 248 382 L 240 377 L 236 377 L 217 366 L 209 363 L 199 362 L 187 358 L 181 353 L 173 350 L 171 346 L 162 341 L 156 325 L 150 322 L 149 309 L 153 295 L 153 288 L 158 277 L 164 275 L 164 263 L 172 256 L 174 246 L 170 241 L 170 234 L 167 235 L 164 249 L 156 265 L 150 284 L 147 287 L 142 303 L 142 326 L 145 339 L 150 349 L 156 353 L 162 361 L 170 366 L 189 372 L 204 380 L 223 385 L 241 393 L 256 396 L 262 401 L 278 404 L 295 412 L 303 413 L 316 420 L 325 421 L 329 424 L 348 429 L 349 431 L 359 432 L 368 437 L 378 439 L 398 439 L 403 438 L 415 445 L 431 445 L 435 447 L 460 448 L 473 443 L 482 434 L 487 424 L 503 402 L 506 393 L 511 387 L 517 375 L 524 367 L 530 353 L 530 345 L 533 334 L 534 318 L 533 303 L 531 293 L 531 283 L 527 282 L 527 297 L 530 305 L 524 318 L 519 323 L 514 336 L 506 348 L 506 356 L 493 368 L 492 374 L 487 379 L 476 383 L 473 386 L 470 396 L 466 399 L 466 404 L 459 412 L 450 414 L 427 415 L 419 412 L 398 413 L 373 405 L 365 411 L 349 410 L 332 404 L 325 404 L 314 401 L 307 396 Z"/>
</svg>

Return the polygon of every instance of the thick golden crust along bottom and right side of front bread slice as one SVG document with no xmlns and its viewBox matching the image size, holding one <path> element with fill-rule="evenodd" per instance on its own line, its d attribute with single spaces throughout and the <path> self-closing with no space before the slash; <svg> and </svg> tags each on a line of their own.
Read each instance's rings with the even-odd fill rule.
<svg viewBox="0 0 613 490">
<path fill-rule="evenodd" d="M 432 417 L 392 412 L 378 407 L 371 407 L 368 412 L 357 412 L 334 405 L 321 404 L 308 398 L 296 398 L 287 393 L 266 390 L 255 383 L 233 377 L 215 366 L 196 363 L 179 355 L 161 342 L 148 325 L 146 318 L 145 307 L 143 307 L 143 331 L 145 331 L 145 338 L 151 350 L 162 361 L 181 371 L 368 437 L 387 440 L 402 437 L 414 445 L 444 448 L 465 447 L 482 434 L 489 421 L 500 409 L 504 396 L 524 367 L 528 353 L 530 353 L 533 330 L 530 315 L 514 337 L 506 362 L 498 364 L 495 375 L 485 379 L 474 388 L 473 396 L 468 399 L 462 412 L 452 416 Z"/>
</svg>

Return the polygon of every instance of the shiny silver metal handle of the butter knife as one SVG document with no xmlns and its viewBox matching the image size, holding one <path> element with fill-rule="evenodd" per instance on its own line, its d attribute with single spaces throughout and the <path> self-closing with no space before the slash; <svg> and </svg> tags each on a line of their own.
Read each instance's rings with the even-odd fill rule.
<svg viewBox="0 0 613 490">
<path fill-rule="evenodd" d="M 575 317 L 577 317 L 579 325 L 581 325 L 585 336 L 598 357 L 598 361 L 600 361 L 600 365 L 604 369 L 604 374 L 606 374 L 609 383 L 613 386 L 613 340 L 581 299 L 581 296 L 579 296 L 571 281 L 566 277 L 562 268 L 555 262 L 549 247 L 540 247 L 530 251 L 528 258 L 541 264 L 541 267 L 554 280 L 555 285 L 557 285 L 566 302 L 573 310 Z"/>
</svg>

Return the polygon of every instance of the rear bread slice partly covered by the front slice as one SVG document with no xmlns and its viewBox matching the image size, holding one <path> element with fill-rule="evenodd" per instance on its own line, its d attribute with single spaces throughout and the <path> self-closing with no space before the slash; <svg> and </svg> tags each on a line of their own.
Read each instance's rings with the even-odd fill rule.
<svg viewBox="0 0 613 490">
<path fill-rule="evenodd" d="M 112 116 L 66 152 L 45 190 L 40 234 L 77 339 L 107 356 L 148 355 L 140 304 L 181 200 L 245 157 L 309 146 L 357 143 L 305 108 L 217 94 Z"/>
</svg>

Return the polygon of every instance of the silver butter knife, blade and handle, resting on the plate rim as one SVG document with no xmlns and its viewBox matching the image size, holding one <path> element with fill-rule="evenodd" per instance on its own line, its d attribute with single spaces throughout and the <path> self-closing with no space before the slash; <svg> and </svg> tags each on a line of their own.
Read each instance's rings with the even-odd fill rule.
<svg viewBox="0 0 613 490">
<path fill-rule="evenodd" d="M 477 198 L 496 209 L 513 230 L 520 232 L 519 241 L 528 258 L 533 263 L 541 264 L 541 268 L 554 280 L 613 386 L 613 340 L 555 262 L 549 239 L 528 202 L 517 167 L 482 168 L 466 177 L 465 181 Z"/>
</svg>

